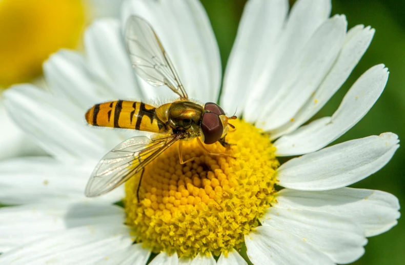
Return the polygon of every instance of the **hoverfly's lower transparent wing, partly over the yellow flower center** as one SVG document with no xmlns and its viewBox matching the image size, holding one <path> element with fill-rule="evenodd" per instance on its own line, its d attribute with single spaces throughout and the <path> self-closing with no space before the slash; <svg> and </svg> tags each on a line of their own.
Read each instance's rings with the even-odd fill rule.
<svg viewBox="0 0 405 265">
<path fill-rule="evenodd" d="M 155 140 L 137 136 L 123 141 L 98 162 L 87 182 L 85 195 L 99 196 L 115 189 L 134 175 L 140 178 L 144 167 L 176 140 L 178 137 L 173 136 Z"/>
</svg>

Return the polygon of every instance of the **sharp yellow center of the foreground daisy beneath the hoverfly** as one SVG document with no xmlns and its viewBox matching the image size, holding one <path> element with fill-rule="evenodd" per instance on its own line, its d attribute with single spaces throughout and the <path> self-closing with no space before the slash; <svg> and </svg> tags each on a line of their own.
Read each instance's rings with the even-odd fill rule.
<svg viewBox="0 0 405 265">
<path fill-rule="evenodd" d="M 124 199 L 127 225 L 137 241 L 154 252 L 177 252 L 179 256 L 225 253 L 244 242 L 244 235 L 259 225 L 258 217 L 274 199 L 275 169 L 279 166 L 269 137 L 241 120 L 226 139 L 202 151 L 195 140 L 185 141 L 180 165 L 177 146 L 156 158 L 145 169 L 136 199 L 136 179 L 126 182 Z"/>
</svg>

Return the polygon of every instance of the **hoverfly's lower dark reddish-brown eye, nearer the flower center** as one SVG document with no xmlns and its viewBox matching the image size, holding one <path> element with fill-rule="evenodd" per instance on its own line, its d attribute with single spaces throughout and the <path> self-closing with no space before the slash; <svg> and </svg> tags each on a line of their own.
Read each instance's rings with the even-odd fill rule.
<svg viewBox="0 0 405 265">
<path fill-rule="evenodd" d="M 201 129 L 204 134 L 204 144 L 214 144 L 222 136 L 221 119 L 213 112 L 206 112 L 202 115 Z"/>
</svg>

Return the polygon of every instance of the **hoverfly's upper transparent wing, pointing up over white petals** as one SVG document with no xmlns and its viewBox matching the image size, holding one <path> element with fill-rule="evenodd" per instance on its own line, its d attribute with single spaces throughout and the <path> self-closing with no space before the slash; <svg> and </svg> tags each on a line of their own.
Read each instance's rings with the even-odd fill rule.
<svg viewBox="0 0 405 265">
<path fill-rule="evenodd" d="M 166 85 L 180 97 L 186 90 L 153 28 L 143 18 L 131 16 L 125 33 L 127 49 L 135 72 L 150 85 Z"/>
</svg>

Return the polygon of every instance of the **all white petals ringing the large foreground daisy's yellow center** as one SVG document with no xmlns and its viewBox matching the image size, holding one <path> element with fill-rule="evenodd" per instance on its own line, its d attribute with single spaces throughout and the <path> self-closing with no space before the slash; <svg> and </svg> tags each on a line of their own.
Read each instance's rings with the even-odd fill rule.
<svg viewBox="0 0 405 265">
<path fill-rule="evenodd" d="M 150 21 L 190 95 L 201 101 L 215 101 L 221 74 L 218 48 L 208 18 L 198 2 L 176 4 L 179 3 L 181 5 L 174 6 L 170 1 L 159 4 L 128 1 L 123 9 L 122 24 L 129 14 L 138 14 Z M 315 114 L 320 108 L 318 106 L 325 104 L 346 80 L 374 33 L 370 28 L 357 26 L 346 34 L 344 16 L 328 19 L 330 3 L 313 3 L 299 1 L 285 28 L 282 25 L 287 16 L 286 1 L 250 1 L 242 18 L 224 80 L 221 105 L 229 112 L 234 111 L 236 105 L 246 106 L 238 111 L 251 122 L 258 120 L 256 125 L 271 130 L 272 135 L 292 132 Z M 269 12 L 277 16 L 268 16 Z M 265 18 L 278 19 L 278 24 Z M 255 19 L 262 23 L 262 28 L 257 27 Z M 268 32 L 266 25 L 274 26 L 271 32 L 276 35 L 270 31 L 271 36 L 261 34 Z M 44 68 L 51 93 L 30 85 L 14 87 L 7 92 L 8 108 L 13 118 L 53 157 L 15 159 L 0 165 L 0 201 L 22 205 L 0 209 L 0 234 L 6 235 L 0 239 L 0 251 L 7 251 L 0 256 L 0 261 L 13 260 L 15 264 L 102 261 L 116 264 L 124 259 L 126 262 L 137 260 L 140 264 L 146 262 L 148 250 L 141 249 L 139 244 L 131 245 L 128 229 L 117 226 L 122 222 L 124 212 L 110 203 L 123 196 L 122 190 L 91 200 L 82 195 L 87 176 L 97 160 L 120 140 L 134 134 L 88 128 L 83 118 L 87 108 L 109 99 L 148 100 L 159 94 L 158 89 L 150 89 L 133 74 L 121 30 L 120 24 L 113 19 L 96 22 L 86 33 L 85 57 L 72 51 L 61 51 L 52 56 Z M 257 41 L 244 37 L 245 32 L 255 30 L 258 32 L 253 36 L 260 38 Z M 330 32 L 333 34 L 329 35 Z M 324 38 L 328 39 L 326 44 Z M 180 39 L 183 42 L 178 42 Z M 268 39 L 269 42 L 264 42 Z M 246 63 L 249 58 L 243 56 L 247 50 L 266 50 L 265 47 L 256 47 L 260 43 L 274 43 L 274 54 L 268 56 L 275 59 L 265 60 L 265 56 L 258 53 L 252 56 L 257 65 Z M 296 46 L 284 51 L 286 44 Z M 319 49 L 312 50 L 314 47 Z M 325 55 L 320 52 L 322 56 L 308 56 L 311 51 L 313 55 L 316 51 L 323 51 Z M 243 64 L 238 63 L 238 57 Z M 256 66 L 266 71 L 255 71 Z M 252 75 L 247 74 L 252 70 Z M 382 65 L 371 68 L 353 85 L 332 117 L 315 120 L 279 138 L 275 144 L 278 154 L 310 153 L 330 144 L 367 113 L 382 92 L 387 78 L 387 70 Z M 273 89 L 272 94 L 260 85 Z M 305 89 L 298 91 L 301 87 Z M 246 88 L 253 90 L 251 96 L 240 96 Z M 367 96 L 358 93 L 365 88 L 369 89 Z M 314 91 L 317 92 L 312 94 Z M 290 93 L 296 92 L 302 94 L 289 98 Z M 274 95 L 270 98 L 270 102 L 277 101 L 274 108 L 268 107 L 271 105 L 267 105 L 267 94 L 269 97 Z M 353 96 L 361 111 L 352 111 Z M 278 104 L 283 107 L 282 111 Z M 257 107 L 257 110 L 251 107 Z M 260 116 L 258 110 L 262 108 L 268 112 Z M 280 115 L 275 115 L 275 112 L 280 112 Z M 311 141 L 317 132 L 322 133 Z M 279 183 L 291 189 L 277 194 L 277 203 L 261 218 L 263 226 L 246 237 L 251 260 L 256 264 L 267 264 L 272 256 L 275 263 L 331 264 L 351 262 L 361 256 L 362 246 L 367 243 L 365 236 L 382 233 L 396 224 L 398 201 L 388 193 L 342 187 L 385 165 L 397 149 L 397 142 L 396 135 L 391 133 L 370 136 L 283 164 L 278 171 Z M 307 160 L 312 161 L 311 168 L 306 168 Z M 318 170 L 314 171 L 316 163 Z M 342 166 L 346 165 L 348 167 L 343 169 Z M 331 170 L 328 166 L 335 168 Z M 308 174 L 297 179 L 298 167 L 299 172 L 308 170 Z M 329 174 L 331 172 L 334 174 Z M 325 191 L 330 189 L 335 190 Z M 385 218 L 376 218 L 381 216 Z M 336 227 L 341 233 L 336 233 Z M 300 238 L 306 238 L 308 243 L 303 243 Z M 288 245 L 294 248 L 280 248 Z M 221 256 L 218 263 L 230 264 L 232 259 L 242 262 L 236 252 L 231 252 L 230 258 Z M 177 256 L 168 257 L 162 253 L 152 264 L 170 260 L 176 264 Z M 215 263 L 212 257 L 197 256 L 197 261 Z"/>
</svg>

